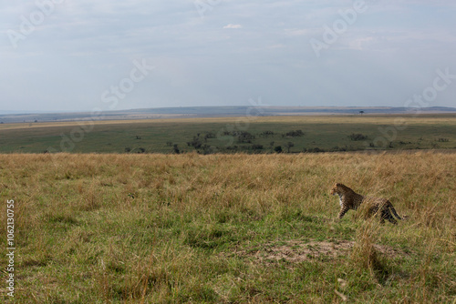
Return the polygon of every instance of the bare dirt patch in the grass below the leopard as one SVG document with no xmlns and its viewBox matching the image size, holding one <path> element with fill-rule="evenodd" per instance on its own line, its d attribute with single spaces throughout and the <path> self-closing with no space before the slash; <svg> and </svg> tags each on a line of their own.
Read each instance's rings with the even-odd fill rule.
<svg viewBox="0 0 456 304">
<path fill-rule="evenodd" d="M 240 257 L 251 257 L 259 262 L 286 260 L 288 262 L 296 263 L 315 258 L 338 258 L 341 256 L 348 256 L 354 245 L 355 242 L 349 240 L 330 242 L 295 239 L 268 242 L 256 248 L 235 251 L 234 254 Z M 395 258 L 399 255 L 409 255 L 401 249 L 392 248 L 386 245 L 374 245 L 374 248 L 389 258 Z"/>
</svg>

